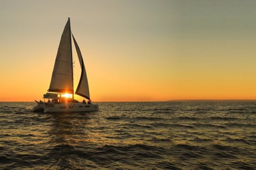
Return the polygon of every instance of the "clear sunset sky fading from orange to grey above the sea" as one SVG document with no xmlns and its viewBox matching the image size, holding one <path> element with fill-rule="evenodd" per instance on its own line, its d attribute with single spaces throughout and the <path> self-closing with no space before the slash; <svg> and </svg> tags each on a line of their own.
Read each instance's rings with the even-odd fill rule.
<svg viewBox="0 0 256 170">
<path fill-rule="evenodd" d="M 68 17 L 92 101 L 256 99 L 254 0 L 0 0 L 0 101 L 42 98 Z"/>
</svg>

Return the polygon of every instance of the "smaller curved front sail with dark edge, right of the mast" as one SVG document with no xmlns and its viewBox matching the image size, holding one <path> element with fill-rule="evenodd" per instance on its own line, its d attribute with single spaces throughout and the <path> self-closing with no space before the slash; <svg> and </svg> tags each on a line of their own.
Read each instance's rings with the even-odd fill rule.
<svg viewBox="0 0 256 170">
<path fill-rule="evenodd" d="M 72 36 L 73 36 L 73 34 L 72 34 Z M 75 49 L 76 49 L 77 56 L 78 56 L 78 59 L 79 59 L 80 65 L 81 65 L 81 69 L 82 69 L 81 77 L 80 77 L 77 89 L 75 91 L 75 94 L 80 95 L 80 96 L 90 100 L 88 79 L 86 76 L 85 66 L 84 66 L 83 59 L 82 59 L 82 53 L 77 45 L 77 42 L 74 39 L 74 36 L 73 36 L 73 41 L 75 44 Z"/>
</svg>

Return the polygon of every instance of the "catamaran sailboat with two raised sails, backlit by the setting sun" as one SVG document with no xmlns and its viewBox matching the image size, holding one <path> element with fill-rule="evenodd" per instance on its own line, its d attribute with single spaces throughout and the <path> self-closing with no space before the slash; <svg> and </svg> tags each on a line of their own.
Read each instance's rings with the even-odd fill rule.
<svg viewBox="0 0 256 170">
<path fill-rule="evenodd" d="M 73 42 L 81 66 L 81 76 L 75 93 L 73 88 L 73 55 L 71 36 L 73 37 Z M 88 102 L 86 103 L 85 100 L 83 100 L 83 102 L 75 100 L 74 94 L 84 97 Z M 82 53 L 73 34 L 71 33 L 70 18 L 68 18 L 61 36 L 48 93 L 44 94 L 43 98 L 44 102 L 38 102 L 35 100 L 37 102 L 37 106 L 33 108 L 34 111 L 44 111 L 46 113 L 99 110 L 98 104 L 91 103 L 88 79 L 82 59 Z M 46 100 L 48 101 L 46 102 Z"/>
</svg>

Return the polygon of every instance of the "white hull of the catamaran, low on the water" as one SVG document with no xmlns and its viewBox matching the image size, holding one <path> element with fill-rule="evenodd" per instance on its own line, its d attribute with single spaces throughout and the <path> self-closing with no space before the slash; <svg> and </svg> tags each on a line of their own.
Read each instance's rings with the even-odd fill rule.
<svg viewBox="0 0 256 170">
<path fill-rule="evenodd" d="M 78 111 L 98 111 L 98 104 L 85 104 L 85 103 L 66 103 L 66 104 L 39 104 L 33 108 L 34 111 L 49 112 L 78 112 Z"/>
</svg>

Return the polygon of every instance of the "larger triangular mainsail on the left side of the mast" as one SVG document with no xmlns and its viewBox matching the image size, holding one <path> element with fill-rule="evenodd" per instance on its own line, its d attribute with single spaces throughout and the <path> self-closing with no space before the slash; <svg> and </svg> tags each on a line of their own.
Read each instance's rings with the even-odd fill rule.
<svg viewBox="0 0 256 170">
<path fill-rule="evenodd" d="M 73 59 L 70 19 L 61 36 L 49 92 L 73 93 Z"/>
</svg>

